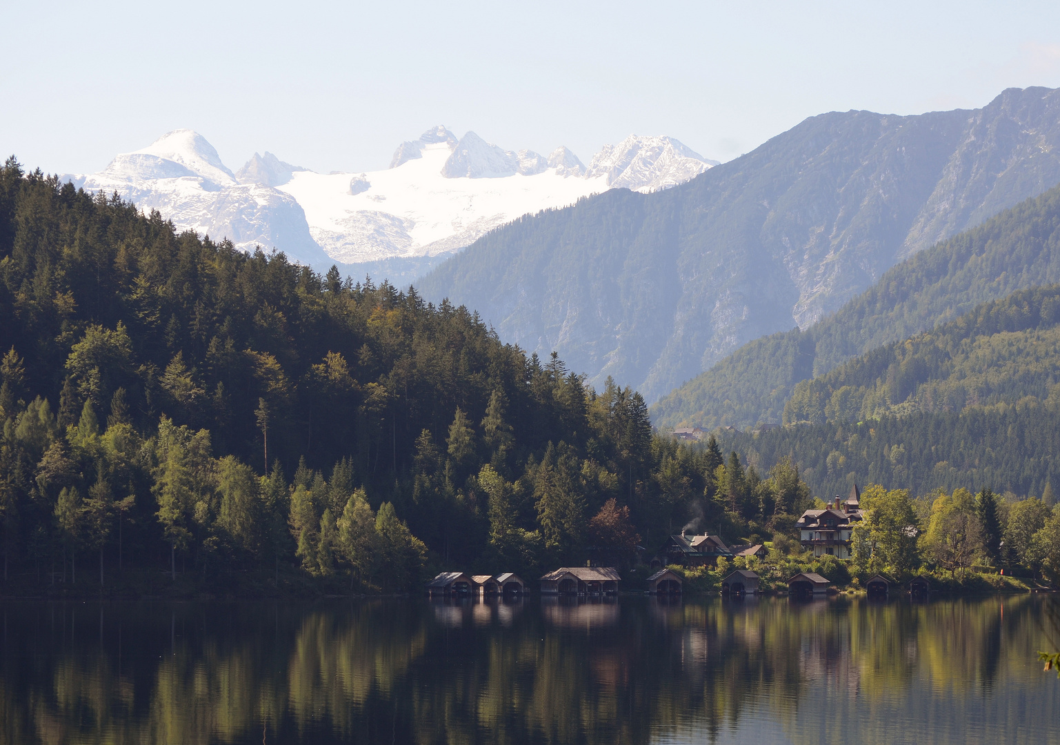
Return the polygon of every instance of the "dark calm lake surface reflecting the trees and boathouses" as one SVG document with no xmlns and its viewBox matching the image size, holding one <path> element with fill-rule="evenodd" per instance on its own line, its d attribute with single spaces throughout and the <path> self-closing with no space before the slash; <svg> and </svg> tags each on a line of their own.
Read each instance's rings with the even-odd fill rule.
<svg viewBox="0 0 1060 745">
<path fill-rule="evenodd" d="M 3 603 L 3 743 L 1060 743 L 1041 597 Z"/>
</svg>

